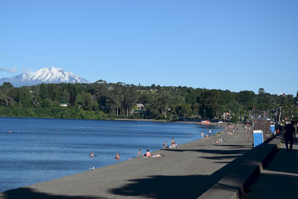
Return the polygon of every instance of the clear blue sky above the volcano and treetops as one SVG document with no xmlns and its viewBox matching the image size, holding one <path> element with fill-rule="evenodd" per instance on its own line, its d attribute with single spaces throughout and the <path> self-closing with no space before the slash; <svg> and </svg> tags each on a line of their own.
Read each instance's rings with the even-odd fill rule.
<svg viewBox="0 0 298 199">
<path fill-rule="evenodd" d="M 0 78 L 298 90 L 298 1 L 1 1 Z"/>
</svg>

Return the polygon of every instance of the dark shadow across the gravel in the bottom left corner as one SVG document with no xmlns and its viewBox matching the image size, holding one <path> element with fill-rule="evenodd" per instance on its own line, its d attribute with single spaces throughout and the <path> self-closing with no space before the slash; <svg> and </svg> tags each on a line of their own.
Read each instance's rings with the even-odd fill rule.
<svg viewBox="0 0 298 199">
<path fill-rule="evenodd" d="M 64 196 L 64 195 L 52 195 L 36 192 L 30 188 L 18 188 L 1 193 L 1 199 L 31 199 L 31 198 L 42 198 L 42 199 L 97 199 L 104 197 L 88 197 L 88 196 Z"/>
</svg>

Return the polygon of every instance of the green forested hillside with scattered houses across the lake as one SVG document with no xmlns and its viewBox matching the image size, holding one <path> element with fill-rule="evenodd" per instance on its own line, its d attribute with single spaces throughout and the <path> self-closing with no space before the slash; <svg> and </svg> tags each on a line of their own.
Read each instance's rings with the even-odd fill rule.
<svg viewBox="0 0 298 199">
<path fill-rule="evenodd" d="M 54 117 L 78 119 L 181 117 L 214 118 L 230 112 L 248 115 L 249 110 L 267 111 L 273 115 L 282 106 L 282 116 L 297 120 L 297 97 L 253 91 L 231 92 L 192 87 L 138 86 L 107 83 L 99 80 L 92 84 L 39 84 L 13 87 L 3 83 L 0 87 L 2 116 Z M 60 103 L 71 106 L 61 107 Z M 144 108 L 138 110 L 137 104 Z M 138 111 L 136 111 L 138 110 Z M 204 111 L 205 110 L 205 111 Z"/>
</svg>

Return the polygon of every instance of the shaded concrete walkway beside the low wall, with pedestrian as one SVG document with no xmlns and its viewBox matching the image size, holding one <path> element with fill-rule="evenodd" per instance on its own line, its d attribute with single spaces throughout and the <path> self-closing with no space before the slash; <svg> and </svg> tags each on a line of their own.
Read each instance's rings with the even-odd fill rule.
<svg viewBox="0 0 298 199">
<path fill-rule="evenodd" d="M 297 166 L 298 139 L 290 153 L 286 152 L 285 144 L 281 143 L 273 160 L 263 168 L 256 182 L 248 187 L 244 198 L 298 198 Z"/>
</svg>

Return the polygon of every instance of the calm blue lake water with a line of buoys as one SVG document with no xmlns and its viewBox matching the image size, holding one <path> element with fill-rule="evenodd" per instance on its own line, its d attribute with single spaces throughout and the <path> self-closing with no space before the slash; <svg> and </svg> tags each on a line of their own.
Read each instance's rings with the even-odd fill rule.
<svg viewBox="0 0 298 199">
<path fill-rule="evenodd" d="M 139 149 L 142 154 L 147 149 L 161 149 L 172 137 L 178 145 L 198 140 L 202 132 L 209 134 L 210 127 L 145 121 L 0 117 L 0 192 L 83 172 L 93 166 L 99 168 L 125 161 L 135 157 Z M 120 154 L 118 161 L 113 158 L 116 153 Z"/>
</svg>

